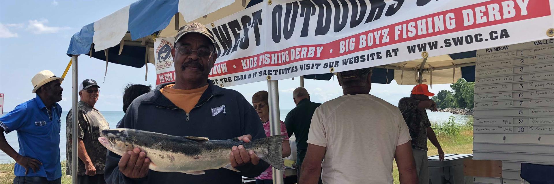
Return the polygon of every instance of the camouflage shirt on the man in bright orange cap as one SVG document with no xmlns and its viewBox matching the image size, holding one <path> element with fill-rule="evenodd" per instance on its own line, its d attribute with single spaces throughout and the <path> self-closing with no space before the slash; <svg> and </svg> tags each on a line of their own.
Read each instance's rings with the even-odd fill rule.
<svg viewBox="0 0 554 184">
<path fill-rule="evenodd" d="M 402 98 L 398 102 L 398 108 L 408 125 L 410 136 L 412 136 L 412 148 L 427 151 L 427 128 L 431 127 L 427 111 L 418 109 L 419 100 L 413 98 Z"/>
</svg>

